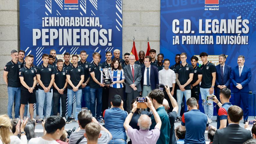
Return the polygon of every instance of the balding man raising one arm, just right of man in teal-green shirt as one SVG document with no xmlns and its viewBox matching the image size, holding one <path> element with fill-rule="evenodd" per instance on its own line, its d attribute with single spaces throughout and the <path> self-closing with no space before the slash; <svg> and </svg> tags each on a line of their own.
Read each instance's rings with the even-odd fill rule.
<svg viewBox="0 0 256 144">
<path fill-rule="evenodd" d="M 167 99 L 163 99 L 163 106 L 164 106 L 164 109 L 166 110 L 167 114 L 168 114 L 168 117 L 169 117 L 169 120 L 170 120 L 170 125 L 171 125 L 171 130 L 170 130 L 170 141 L 169 141 L 169 144 L 171 143 L 177 143 L 176 142 L 176 137 L 175 137 L 175 129 L 174 129 L 174 122 L 175 122 L 175 119 L 177 117 L 177 112 L 178 112 L 178 104 L 176 102 L 176 100 L 174 99 L 174 97 L 171 95 L 170 93 L 170 88 L 169 86 L 165 86 L 165 89 L 166 89 L 166 92 L 167 92 L 167 95 L 171 101 L 171 104 L 173 106 L 173 111 L 169 112 L 169 109 L 170 109 L 170 106 L 169 106 L 169 103 L 167 101 Z"/>
</svg>

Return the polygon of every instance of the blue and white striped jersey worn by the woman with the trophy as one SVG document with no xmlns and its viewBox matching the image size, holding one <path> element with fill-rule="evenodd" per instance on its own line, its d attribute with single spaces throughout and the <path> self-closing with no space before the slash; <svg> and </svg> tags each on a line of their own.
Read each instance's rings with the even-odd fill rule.
<svg viewBox="0 0 256 144">
<path fill-rule="evenodd" d="M 112 81 L 121 81 L 125 79 L 125 74 L 123 70 L 111 70 Z M 124 85 L 122 83 L 115 83 L 110 85 L 112 88 L 123 88 Z"/>
</svg>

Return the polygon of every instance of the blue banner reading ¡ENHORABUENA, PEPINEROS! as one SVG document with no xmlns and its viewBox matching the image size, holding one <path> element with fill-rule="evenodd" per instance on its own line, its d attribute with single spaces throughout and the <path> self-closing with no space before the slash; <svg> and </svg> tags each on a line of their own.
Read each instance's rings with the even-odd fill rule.
<svg viewBox="0 0 256 144">
<path fill-rule="evenodd" d="M 92 53 L 120 49 L 122 54 L 122 0 L 22 0 L 20 49 L 42 63 L 42 54 L 56 50 L 56 58 L 69 52 Z M 101 61 L 101 62 L 102 62 Z"/>
</svg>

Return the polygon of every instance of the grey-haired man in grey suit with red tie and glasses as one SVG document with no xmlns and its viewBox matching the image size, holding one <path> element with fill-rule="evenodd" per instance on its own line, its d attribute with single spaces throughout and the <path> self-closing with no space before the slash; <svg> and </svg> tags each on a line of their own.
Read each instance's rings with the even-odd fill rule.
<svg viewBox="0 0 256 144">
<path fill-rule="evenodd" d="M 135 56 L 129 56 L 129 65 L 124 67 L 124 74 L 126 80 L 125 93 L 127 93 L 127 112 L 130 111 L 131 101 L 140 96 L 141 92 L 141 66 L 134 64 Z"/>
</svg>

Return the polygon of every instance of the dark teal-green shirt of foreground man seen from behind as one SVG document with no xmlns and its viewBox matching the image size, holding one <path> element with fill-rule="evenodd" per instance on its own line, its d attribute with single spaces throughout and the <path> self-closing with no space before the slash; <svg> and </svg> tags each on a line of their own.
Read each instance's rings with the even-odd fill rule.
<svg viewBox="0 0 256 144">
<path fill-rule="evenodd" d="M 163 106 L 156 109 L 156 111 L 157 111 L 157 113 L 161 119 L 161 122 L 162 122 L 161 129 L 160 129 L 160 136 L 157 140 L 157 144 L 169 143 L 170 129 L 171 129 L 169 117 L 168 117 Z M 150 130 L 154 129 L 157 124 L 154 119 L 154 115 L 151 116 L 151 122 L 152 122 L 152 125 L 150 126 Z"/>
</svg>

